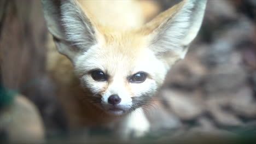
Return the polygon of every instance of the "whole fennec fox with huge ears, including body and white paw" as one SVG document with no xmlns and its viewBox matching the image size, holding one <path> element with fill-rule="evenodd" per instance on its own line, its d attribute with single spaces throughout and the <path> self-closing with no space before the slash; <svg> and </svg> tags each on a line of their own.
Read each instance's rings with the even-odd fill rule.
<svg viewBox="0 0 256 144">
<path fill-rule="evenodd" d="M 184 0 L 144 23 L 140 1 L 42 0 L 57 51 L 48 69 L 72 128 L 150 129 L 143 106 L 196 37 L 207 0 Z"/>
</svg>

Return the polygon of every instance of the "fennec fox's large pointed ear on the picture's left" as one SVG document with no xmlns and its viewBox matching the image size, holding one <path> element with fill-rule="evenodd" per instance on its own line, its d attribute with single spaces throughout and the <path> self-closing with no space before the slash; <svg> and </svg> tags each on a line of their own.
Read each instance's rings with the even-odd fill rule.
<svg viewBox="0 0 256 144">
<path fill-rule="evenodd" d="M 95 22 L 74 0 L 42 0 L 44 17 L 57 50 L 71 61 L 97 43 Z"/>
</svg>

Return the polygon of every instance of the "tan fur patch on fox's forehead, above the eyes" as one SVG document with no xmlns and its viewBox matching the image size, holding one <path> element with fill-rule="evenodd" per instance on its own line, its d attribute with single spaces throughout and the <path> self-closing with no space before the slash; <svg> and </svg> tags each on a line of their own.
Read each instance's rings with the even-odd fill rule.
<svg viewBox="0 0 256 144">
<path fill-rule="evenodd" d="M 100 63 L 106 67 L 107 70 L 119 65 L 117 69 L 131 69 L 135 67 L 135 61 L 139 57 L 144 57 L 147 49 L 147 40 L 136 31 L 108 31 L 108 29 L 100 29 L 103 33 L 103 38 L 98 39 L 98 45 L 95 50 L 91 50 L 90 57 L 95 57 L 97 52 L 98 58 L 96 63 Z M 102 62 L 100 62 L 102 59 Z"/>
</svg>

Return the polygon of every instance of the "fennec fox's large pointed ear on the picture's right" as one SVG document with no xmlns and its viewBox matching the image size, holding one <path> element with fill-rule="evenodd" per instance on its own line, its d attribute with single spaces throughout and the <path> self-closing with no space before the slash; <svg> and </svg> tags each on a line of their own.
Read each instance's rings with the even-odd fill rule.
<svg viewBox="0 0 256 144">
<path fill-rule="evenodd" d="M 168 63 L 184 58 L 201 27 L 207 0 L 183 0 L 143 27 L 150 49 Z M 176 56 L 171 58 L 171 56 Z"/>
</svg>

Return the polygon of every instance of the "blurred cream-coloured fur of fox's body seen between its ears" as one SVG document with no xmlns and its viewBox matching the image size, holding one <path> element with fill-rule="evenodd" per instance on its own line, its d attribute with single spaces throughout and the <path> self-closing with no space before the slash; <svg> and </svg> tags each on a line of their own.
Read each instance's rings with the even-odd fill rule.
<svg viewBox="0 0 256 144">
<path fill-rule="evenodd" d="M 131 1 L 84 1 L 78 0 L 82 9 L 100 25 L 116 29 L 142 26 L 145 18 L 139 2 Z M 121 15 L 120 15 L 121 14 Z"/>
</svg>

